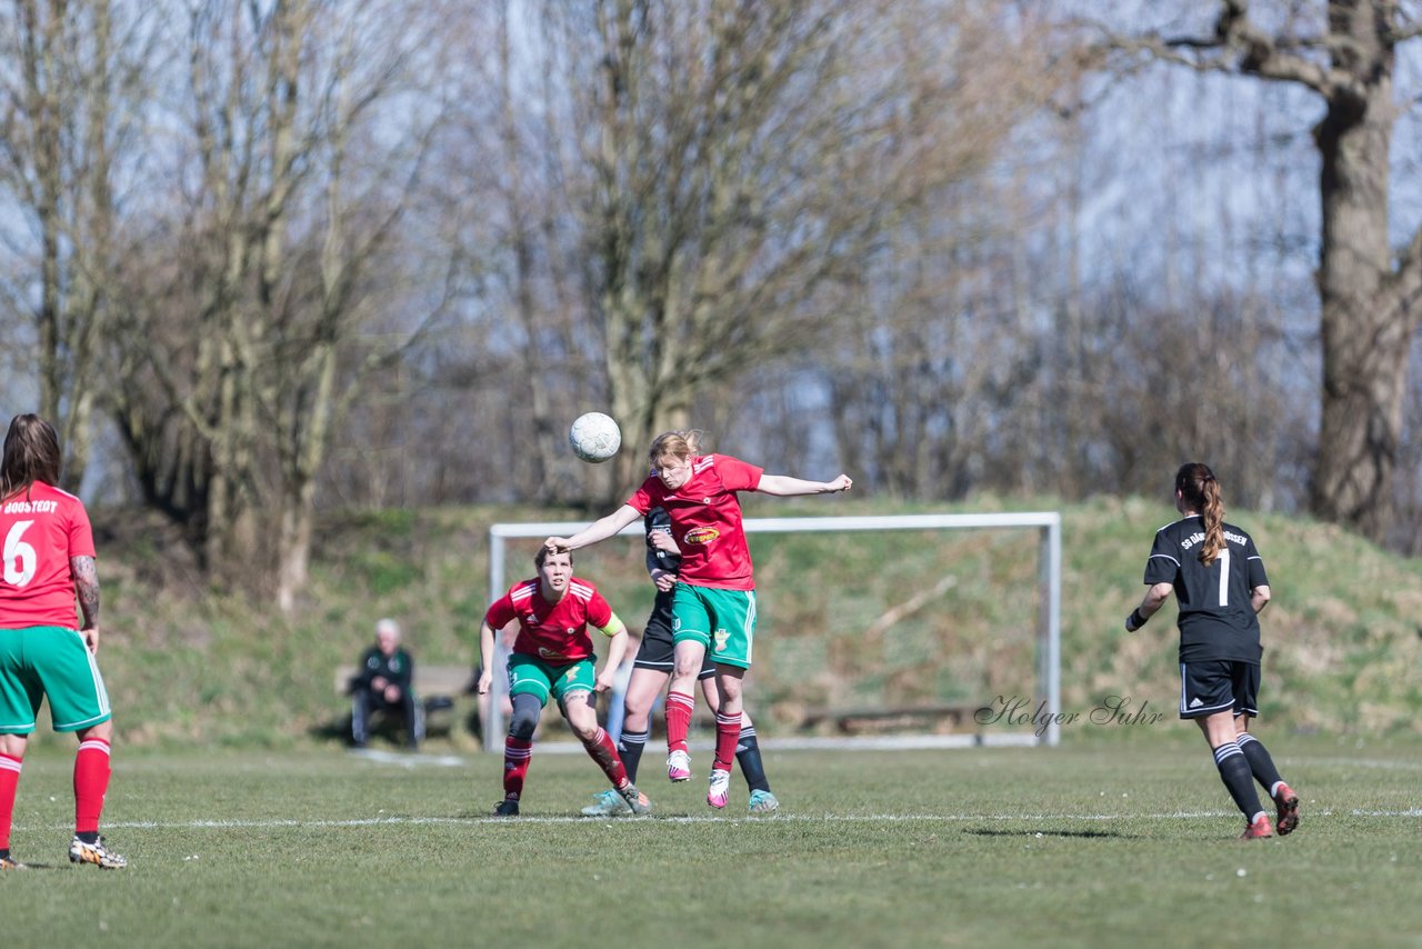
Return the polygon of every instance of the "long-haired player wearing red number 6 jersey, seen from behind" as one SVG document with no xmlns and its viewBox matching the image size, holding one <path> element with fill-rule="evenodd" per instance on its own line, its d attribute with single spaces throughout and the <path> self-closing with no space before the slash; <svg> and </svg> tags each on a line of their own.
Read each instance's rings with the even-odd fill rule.
<svg viewBox="0 0 1422 949">
<path fill-rule="evenodd" d="M 98 835 L 108 792 L 114 734 L 98 674 L 98 572 L 84 504 L 60 491 L 60 440 L 38 415 L 16 415 L 0 462 L 0 869 L 10 858 L 10 822 L 26 746 L 48 696 L 55 731 L 73 731 L 74 839 L 70 861 L 125 866 Z M 75 595 L 82 626 L 75 622 Z M 78 626 L 78 629 L 75 629 Z"/>
</svg>

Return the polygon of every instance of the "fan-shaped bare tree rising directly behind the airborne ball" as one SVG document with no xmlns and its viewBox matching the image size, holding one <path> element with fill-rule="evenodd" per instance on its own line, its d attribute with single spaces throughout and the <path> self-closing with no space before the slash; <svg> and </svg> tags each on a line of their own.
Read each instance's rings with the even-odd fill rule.
<svg viewBox="0 0 1422 949">
<path fill-rule="evenodd" d="M 826 339 L 828 289 L 941 181 L 916 124 L 944 88 L 903 84 L 893 40 L 947 27 L 943 6 L 547 4 L 584 299 L 631 447 L 694 421 L 717 380 Z M 626 482 L 640 452 L 621 464 Z"/>
</svg>

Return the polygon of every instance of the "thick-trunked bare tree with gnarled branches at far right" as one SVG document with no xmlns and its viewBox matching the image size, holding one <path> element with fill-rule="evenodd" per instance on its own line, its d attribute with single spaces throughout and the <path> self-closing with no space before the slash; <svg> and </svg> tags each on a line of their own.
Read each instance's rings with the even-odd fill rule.
<svg viewBox="0 0 1422 949">
<path fill-rule="evenodd" d="M 1411 343 L 1422 296 L 1422 228 L 1388 243 L 1389 148 L 1399 117 L 1396 50 L 1422 33 L 1399 0 L 1293 4 L 1264 28 L 1247 0 L 1220 0 L 1209 31 L 1116 37 L 1118 50 L 1315 92 L 1321 159 L 1321 428 L 1310 505 L 1381 539 L 1398 464 Z M 1278 13 L 1278 11 L 1276 11 Z"/>
</svg>

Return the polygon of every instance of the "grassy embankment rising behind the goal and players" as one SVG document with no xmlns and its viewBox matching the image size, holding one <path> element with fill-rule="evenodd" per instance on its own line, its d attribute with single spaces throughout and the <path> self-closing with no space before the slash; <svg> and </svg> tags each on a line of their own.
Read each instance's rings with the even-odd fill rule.
<svg viewBox="0 0 1422 949">
<path fill-rule="evenodd" d="M 1172 713 L 1173 721 L 1172 623 L 1158 619 L 1135 636 L 1121 629 L 1142 592 L 1150 536 L 1173 515 L 1166 505 L 984 498 L 929 508 L 754 498 L 747 507 L 751 516 L 1061 509 L 1064 707 L 1086 711 L 1121 694 L 1136 707 Z M 100 659 L 122 740 L 299 746 L 340 713 L 331 670 L 357 654 L 380 616 L 405 625 L 418 660 L 472 663 L 488 599 L 488 524 L 560 518 L 584 515 L 465 508 L 327 516 L 310 589 L 283 617 L 257 598 L 195 589 L 193 573 L 165 555 L 152 532 L 129 528 L 118 536 L 108 525 L 127 522 L 127 515 L 95 512 L 105 629 Z M 1422 561 L 1388 555 L 1304 518 L 1230 518 L 1254 534 L 1274 588 L 1264 615 L 1267 723 L 1324 733 L 1422 730 Z M 518 549 L 509 579 L 532 572 L 533 544 Z M 1035 536 L 761 535 L 754 552 L 762 595 L 754 701 L 762 733 L 784 731 L 813 706 L 1031 693 Z M 582 552 L 577 569 L 640 626 L 651 589 L 634 544 Z M 1066 727 L 1062 734 L 1072 740 L 1082 731 Z M 455 736 L 454 743 L 472 738 Z"/>
</svg>

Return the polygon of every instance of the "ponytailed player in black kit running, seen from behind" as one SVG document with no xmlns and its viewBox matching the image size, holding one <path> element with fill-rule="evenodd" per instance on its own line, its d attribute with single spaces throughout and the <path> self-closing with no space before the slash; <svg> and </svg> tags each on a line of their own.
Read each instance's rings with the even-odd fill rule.
<svg viewBox="0 0 1422 949">
<path fill-rule="evenodd" d="M 1146 590 L 1126 617 L 1136 632 L 1173 592 L 1180 606 L 1180 717 L 1193 719 L 1214 751 L 1220 780 L 1244 812 L 1244 839 L 1273 837 L 1254 791 L 1274 798 L 1280 837 L 1298 827 L 1298 795 L 1284 783 L 1264 744 L 1249 733 L 1258 714 L 1258 613 L 1268 605 L 1268 576 L 1254 539 L 1224 522 L 1220 482 L 1209 465 L 1182 465 L 1175 507 L 1183 515 L 1156 531 L 1146 561 Z"/>
</svg>

